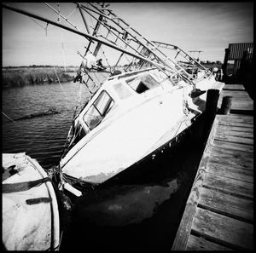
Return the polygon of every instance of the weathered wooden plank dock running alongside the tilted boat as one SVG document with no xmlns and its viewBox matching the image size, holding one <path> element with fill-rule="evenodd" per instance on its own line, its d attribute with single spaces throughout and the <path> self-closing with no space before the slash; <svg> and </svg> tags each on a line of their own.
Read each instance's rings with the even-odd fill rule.
<svg viewBox="0 0 256 253">
<path fill-rule="evenodd" d="M 253 250 L 253 101 L 241 85 L 224 95 L 245 113 L 216 116 L 172 250 Z"/>
</svg>

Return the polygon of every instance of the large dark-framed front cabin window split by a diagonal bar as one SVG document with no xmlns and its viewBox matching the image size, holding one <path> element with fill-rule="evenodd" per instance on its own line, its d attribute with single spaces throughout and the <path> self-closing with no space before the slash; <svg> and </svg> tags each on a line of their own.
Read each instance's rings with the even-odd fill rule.
<svg viewBox="0 0 256 253">
<path fill-rule="evenodd" d="M 96 128 L 102 122 L 113 107 L 113 99 L 105 90 L 97 97 L 96 101 L 90 106 L 89 110 L 84 114 L 84 122 L 90 130 Z"/>
</svg>

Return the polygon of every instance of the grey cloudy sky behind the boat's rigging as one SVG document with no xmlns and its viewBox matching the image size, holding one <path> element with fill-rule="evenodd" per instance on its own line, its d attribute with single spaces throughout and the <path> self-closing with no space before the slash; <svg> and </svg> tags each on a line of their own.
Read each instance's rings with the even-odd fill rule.
<svg viewBox="0 0 256 253">
<path fill-rule="evenodd" d="M 9 4 L 9 3 L 8 3 Z M 44 15 L 57 14 L 44 3 L 10 3 Z M 56 3 L 50 3 L 57 9 Z M 84 30 L 79 11 L 60 3 L 61 13 Z M 172 43 L 184 49 L 202 50 L 200 60 L 224 61 L 229 43 L 253 43 L 253 3 L 110 3 L 108 9 L 148 40 Z M 64 20 L 61 24 L 65 24 Z M 66 25 L 66 24 L 65 24 Z M 3 66 L 79 66 L 87 40 L 61 28 L 3 9 Z M 194 53 L 193 53 L 194 54 Z M 194 55 L 197 58 L 198 54 Z"/>
</svg>

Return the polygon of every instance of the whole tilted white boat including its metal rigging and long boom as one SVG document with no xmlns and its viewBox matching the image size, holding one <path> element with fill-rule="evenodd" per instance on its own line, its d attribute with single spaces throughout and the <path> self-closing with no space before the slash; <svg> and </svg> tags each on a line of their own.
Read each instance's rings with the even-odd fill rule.
<svg viewBox="0 0 256 253">
<path fill-rule="evenodd" d="M 183 60 L 164 54 L 160 50 L 163 43 L 143 37 L 105 3 L 76 4 L 87 32 L 80 32 L 60 9 L 48 3 L 58 19 L 68 21 L 75 29 L 20 9 L 15 11 L 88 40 L 84 56 L 79 53 L 83 60 L 74 81 L 88 87 L 90 101 L 75 113 L 55 170 L 60 189 L 80 196 L 83 189 L 73 187 L 77 181 L 102 184 L 144 158 L 153 158 L 160 147 L 171 145 L 205 111 L 207 90 L 221 90 L 224 83 L 216 80 L 215 70 L 201 66 L 177 46 L 172 47 Z M 93 20 L 91 26 L 84 14 Z M 114 63 L 109 64 L 110 59 Z M 105 74 L 105 81 L 97 82 L 96 73 Z"/>
</svg>

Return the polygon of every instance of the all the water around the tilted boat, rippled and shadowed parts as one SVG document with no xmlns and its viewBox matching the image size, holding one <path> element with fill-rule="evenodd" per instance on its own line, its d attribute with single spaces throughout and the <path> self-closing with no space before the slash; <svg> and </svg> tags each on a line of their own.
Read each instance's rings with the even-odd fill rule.
<svg viewBox="0 0 256 253">
<path fill-rule="evenodd" d="M 26 152 L 44 169 L 58 164 L 79 101 L 79 83 L 3 89 L 3 112 L 20 118 L 55 108 L 61 114 L 12 122 L 3 116 L 3 152 Z M 81 86 L 82 104 L 89 97 Z M 67 96 L 66 96 L 67 95 Z M 195 127 L 196 129 L 196 127 Z M 61 250 L 171 249 L 202 147 L 189 136 L 154 159 L 137 181 L 96 190 L 79 198 Z"/>
</svg>

